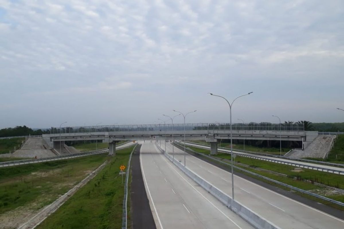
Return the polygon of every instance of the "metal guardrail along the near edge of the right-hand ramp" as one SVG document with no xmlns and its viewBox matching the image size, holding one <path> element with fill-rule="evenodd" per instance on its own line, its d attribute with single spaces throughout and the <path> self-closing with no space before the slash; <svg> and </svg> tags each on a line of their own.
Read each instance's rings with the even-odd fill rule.
<svg viewBox="0 0 344 229">
<path fill-rule="evenodd" d="M 200 148 L 200 149 L 207 149 L 204 146 L 194 146 L 194 147 Z M 217 151 L 222 152 L 222 153 L 230 153 L 228 151 L 224 151 L 221 149 L 217 150 Z M 305 168 L 305 169 L 312 169 L 312 170 L 316 170 L 316 171 L 322 171 L 322 172 L 329 172 L 329 173 L 344 175 L 344 171 L 341 171 L 341 170 L 321 168 L 321 167 L 316 167 L 313 165 L 305 165 L 305 164 L 293 163 L 293 162 L 288 162 L 288 161 L 280 161 L 280 160 L 275 160 L 272 158 L 271 159 L 270 158 L 261 158 L 261 157 L 256 157 L 256 156 L 251 156 L 251 155 L 241 154 L 241 153 L 235 153 L 235 154 L 238 154 L 241 157 L 253 158 L 253 159 L 258 159 L 258 160 L 263 160 L 263 161 L 270 161 L 270 162 L 274 162 L 274 163 L 279 163 L 279 164 L 287 164 L 287 165 L 296 166 L 296 167 Z"/>
</svg>

